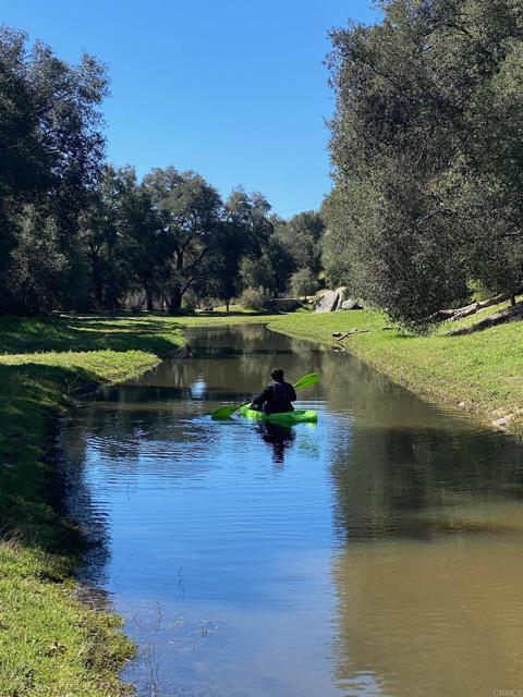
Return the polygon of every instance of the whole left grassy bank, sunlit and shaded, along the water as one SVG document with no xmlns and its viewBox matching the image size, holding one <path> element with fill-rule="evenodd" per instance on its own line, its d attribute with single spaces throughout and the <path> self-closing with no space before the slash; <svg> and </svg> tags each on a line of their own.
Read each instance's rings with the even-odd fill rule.
<svg viewBox="0 0 523 697">
<path fill-rule="evenodd" d="M 57 413 L 74 395 L 139 375 L 198 323 L 245 315 L 0 318 L 0 696 L 117 697 L 133 647 L 118 617 L 74 598 L 83 538 L 51 506 Z"/>
</svg>

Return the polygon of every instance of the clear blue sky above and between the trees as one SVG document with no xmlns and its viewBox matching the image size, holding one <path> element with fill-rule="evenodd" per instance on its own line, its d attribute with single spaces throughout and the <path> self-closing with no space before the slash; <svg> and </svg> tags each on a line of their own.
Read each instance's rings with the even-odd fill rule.
<svg viewBox="0 0 523 697">
<path fill-rule="evenodd" d="M 243 184 L 285 217 L 330 188 L 327 32 L 375 16 L 367 0 L 0 0 L 3 24 L 106 63 L 111 161 Z"/>
</svg>

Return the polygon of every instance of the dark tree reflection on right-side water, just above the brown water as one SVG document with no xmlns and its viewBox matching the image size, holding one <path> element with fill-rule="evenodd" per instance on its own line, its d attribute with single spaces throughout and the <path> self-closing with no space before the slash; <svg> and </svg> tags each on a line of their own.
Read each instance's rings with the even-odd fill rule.
<svg viewBox="0 0 523 697">
<path fill-rule="evenodd" d="M 331 470 L 339 537 L 496 531 L 483 519 L 483 503 L 521 498 L 521 447 L 510 437 L 459 426 L 356 425 L 350 443 L 337 441 Z M 475 517 L 461 517 L 463 506 L 475 505 Z"/>
</svg>

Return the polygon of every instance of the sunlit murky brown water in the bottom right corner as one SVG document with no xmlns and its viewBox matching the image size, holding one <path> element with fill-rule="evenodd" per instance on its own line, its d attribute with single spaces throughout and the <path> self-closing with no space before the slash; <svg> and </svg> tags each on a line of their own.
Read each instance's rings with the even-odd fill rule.
<svg viewBox="0 0 523 697">
<path fill-rule="evenodd" d="M 522 685 L 522 573 L 521 536 L 345 547 L 332 563 L 338 685 L 428 697 Z"/>
</svg>

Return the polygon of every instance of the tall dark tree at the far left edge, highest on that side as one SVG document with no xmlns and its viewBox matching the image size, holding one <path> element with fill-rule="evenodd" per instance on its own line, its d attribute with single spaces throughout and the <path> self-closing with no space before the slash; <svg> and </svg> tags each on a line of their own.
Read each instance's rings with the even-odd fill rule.
<svg viewBox="0 0 523 697">
<path fill-rule="evenodd" d="M 60 285 L 52 289 L 56 303 L 80 307 L 87 298 L 78 219 L 101 171 L 105 140 L 98 106 L 106 91 L 105 70 L 94 58 L 83 56 L 72 66 L 44 44 L 28 47 L 25 34 L 0 29 L 0 302 L 4 310 L 24 310 L 24 299 L 13 293 L 19 286 L 7 282 L 12 279 L 10 266 L 21 260 L 20 255 L 15 258 L 19 244 L 26 252 L 33 247 L 33 255 L 50 245 L 59 249 L 64 264 L 58 279 L 51 274 L 53 284 L 58 280 Z M 40 240 L 46 235 L 47 241 Z"/>
</svg>

